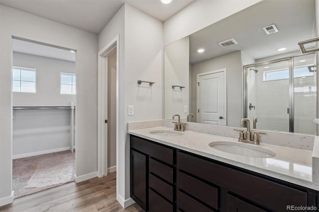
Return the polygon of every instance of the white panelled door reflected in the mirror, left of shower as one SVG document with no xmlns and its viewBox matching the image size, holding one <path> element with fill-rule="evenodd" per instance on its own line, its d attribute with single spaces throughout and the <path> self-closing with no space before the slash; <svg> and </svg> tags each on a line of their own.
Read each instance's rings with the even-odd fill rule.
<svg viewBox="0 0 319 212">
<path fill-rule="evenodd" d="M 197 75 L 197 122 L 226 125 L 226 69 Z"/>
</svg>

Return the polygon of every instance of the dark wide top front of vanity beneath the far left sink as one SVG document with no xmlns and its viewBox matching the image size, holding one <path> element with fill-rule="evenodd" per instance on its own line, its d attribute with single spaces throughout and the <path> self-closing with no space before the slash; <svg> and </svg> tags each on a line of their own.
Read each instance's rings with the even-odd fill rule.
<svg viewBox="0 0 319 212">
<path fill-rule="evenodd" d="M 131 135 L 131 148 L 173 165 L 173 149 Z"/>
</svg>

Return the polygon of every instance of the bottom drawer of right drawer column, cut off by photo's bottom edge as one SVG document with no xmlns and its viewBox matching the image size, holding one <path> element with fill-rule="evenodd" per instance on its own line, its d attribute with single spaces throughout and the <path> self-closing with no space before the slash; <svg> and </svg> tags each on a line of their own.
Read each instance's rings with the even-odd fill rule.
<svg viewBox="0 0 319 212">
<path fill-rule="evenodd" d="M 212 212 L 209 208 L 188 197 L 184 193 L 177 193 L 177 207 L 184 212 Z"/>
</svg>

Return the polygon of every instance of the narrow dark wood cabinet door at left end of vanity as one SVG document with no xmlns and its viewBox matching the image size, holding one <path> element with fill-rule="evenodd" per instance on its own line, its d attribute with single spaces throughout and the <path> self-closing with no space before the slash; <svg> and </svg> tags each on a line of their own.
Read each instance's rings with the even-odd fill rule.
<svg viewBox="0 0 319 212">
<path fill-rule="evenodd" d="M 147 211 L 146 155 L 131 150 L 131 197 Z"/>
</svg>

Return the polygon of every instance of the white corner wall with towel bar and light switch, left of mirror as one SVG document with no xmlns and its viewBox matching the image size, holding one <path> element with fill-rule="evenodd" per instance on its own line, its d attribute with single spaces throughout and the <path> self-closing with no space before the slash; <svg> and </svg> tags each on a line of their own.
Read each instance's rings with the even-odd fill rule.
<svg viewBox="0 0 319 212">
<path fill-rule="evenodd" d="M 125 34 L 124 34 L 125 32 Z M 162 22 L 125 4 L 99 34 L 99 50 L 119 34 L 119 144 L 117 199 L 130 200 L 130 140 L 127 122 L 162 118 Z M 138 80 L 154 81 L 138 85 Z M 128 116 L 128 105 L 135 114 Z"/>
</svg>

